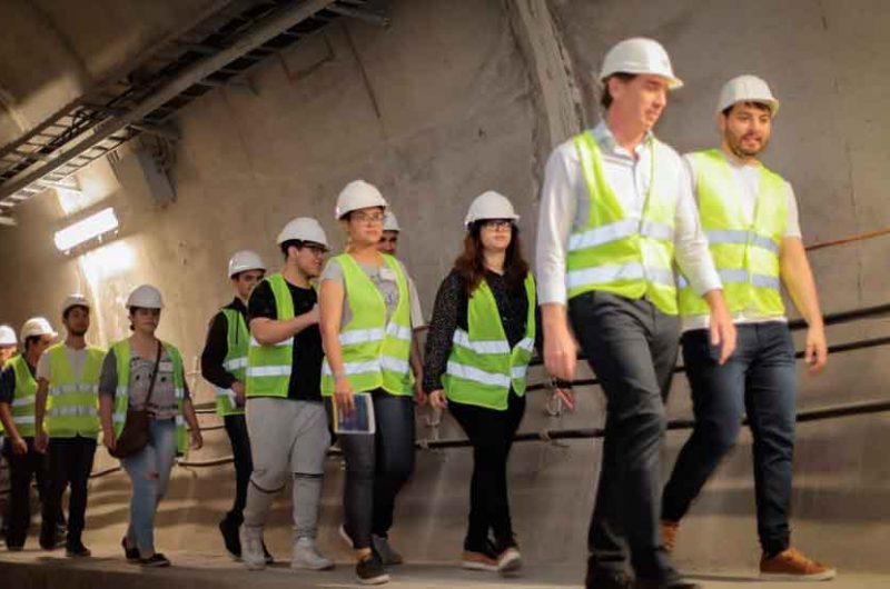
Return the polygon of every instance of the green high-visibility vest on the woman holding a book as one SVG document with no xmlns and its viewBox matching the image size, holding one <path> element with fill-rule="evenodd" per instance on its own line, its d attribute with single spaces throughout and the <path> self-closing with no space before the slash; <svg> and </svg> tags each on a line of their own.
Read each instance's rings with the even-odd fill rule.
<svg viewBox="0 0 890 589">
<path fill-rule="evenodd" d="M 411 294 L 402 266 L 392 256 L 383 254 L 384 268 L 396 276 L 398 305 L 386 322 L 386 302 L 380 291 L 348 253 L 334 258 L 343 268 L 346 300 L 353 315 L 340 327 L 344 371 L 355 392 L 382 388 L 390 395 L 412 395 L 411 371 Z M 322 366 L 322 395 L 334 395 L 335 379 L 327 362 Z"/>
</svg>

